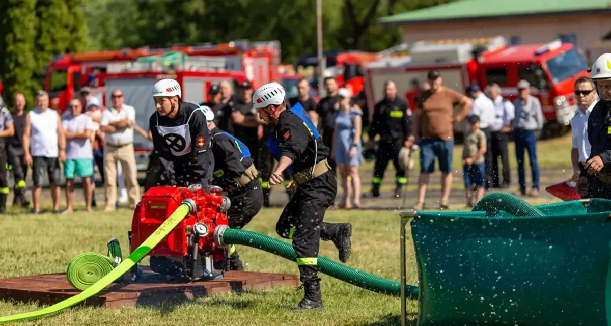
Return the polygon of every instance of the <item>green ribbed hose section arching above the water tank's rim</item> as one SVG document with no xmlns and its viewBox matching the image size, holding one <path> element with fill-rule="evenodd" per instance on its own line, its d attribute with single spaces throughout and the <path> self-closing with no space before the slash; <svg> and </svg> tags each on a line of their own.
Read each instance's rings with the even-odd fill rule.
<svg viewBox="0 0 611 326">
<path fill-rule="evenodd" d="M 484 196 L 473 211 L 483 211 L 492 216 L 499 215 L 500 211 L 510 213 L 514 217 L 543 217 L 540 210 L 518 196 L 508 193 L 490 193 Z"/>
</svg>

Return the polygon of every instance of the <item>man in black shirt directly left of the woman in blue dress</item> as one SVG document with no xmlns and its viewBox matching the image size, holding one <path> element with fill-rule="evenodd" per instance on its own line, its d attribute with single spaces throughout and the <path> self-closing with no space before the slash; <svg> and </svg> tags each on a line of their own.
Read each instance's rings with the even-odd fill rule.
<svg viewBox="0 0 611 326">
<path fill-rule="evenodd" d="M 333 144 L 333 130 L 335 128 L 335 106 L 337 104 L 337 81 L 333 77 L 324 79 L 324 87 L 327 89 L 327 96 L 318 102 L 316 113 L 318 113 L 318 130 L 323 136 L 324 146 L 331 148 Z M 335 162 L 329 160 L 329 165 L 335 171 Z"/>
</svg>

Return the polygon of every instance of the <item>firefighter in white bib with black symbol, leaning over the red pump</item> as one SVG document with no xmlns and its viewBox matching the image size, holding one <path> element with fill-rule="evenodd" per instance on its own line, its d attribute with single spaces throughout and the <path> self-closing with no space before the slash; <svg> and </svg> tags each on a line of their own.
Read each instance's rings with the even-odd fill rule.
<svg viewBox="0 0 611 326">
<path fill-rule="evenodd" d="M 181 95 L 175 80 L 160 80 L 153 86 L 156 112 L 148 125 L 164 177 L 158 184 L 188 187 L 199 183 L 207 190 L 213 168 L 208 122 L 200 106 L 183 102 Z"/>
</svg>

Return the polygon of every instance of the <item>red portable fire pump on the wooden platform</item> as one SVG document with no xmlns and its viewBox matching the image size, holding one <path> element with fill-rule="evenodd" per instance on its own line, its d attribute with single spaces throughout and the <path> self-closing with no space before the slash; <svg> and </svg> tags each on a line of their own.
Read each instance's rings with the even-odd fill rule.
<svg viewBox="0 0 611 326">
<path fill-rule="evenodd" d="M 219 187 L 210 187 L 210 194 L 199 184 L 188 188 L 150 188 L 134 210 L 131 222 L 131 251 L 144 242 L 180 206 L 183 201 L 195 209 L 153 248 L 150 267 L 164 276 L 185 281 L 221 278 L 225 272 L 227 249 L 219 248 L 213 240 L 219 225 L 228 225 L 227 210 L 231 202 Z M 221 266 L 216 272 L 214 265 Z M 137 267 L 132 273 L 138 275 Z"/>
</svg>

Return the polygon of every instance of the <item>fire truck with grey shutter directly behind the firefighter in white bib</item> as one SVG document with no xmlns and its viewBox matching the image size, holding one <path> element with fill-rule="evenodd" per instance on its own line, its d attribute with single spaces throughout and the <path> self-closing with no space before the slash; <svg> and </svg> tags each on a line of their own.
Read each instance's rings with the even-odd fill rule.
<svg viewBox="0 0 611 326">
<path fill-rule="evenodd" d="M 136 62 L 110 63 L 105 72 L 97 75 L 104 84 L 103 102 L 110 103 L 113 89 L 121 89 L 125 104 L 136 109 L 136 124 L 144 130 L 149 130 L 148 119 L 155 112 L 152 87 L 158 80 L 172 78 L 178 81 L 182 88 L 183 101 L 202 103 L 209 99 L 208 88 L 222 80 L 233 81 L 237 86 L 246 80 L 246 73 L 241 70 L 226 69 L 230 58 L 223 56 L 186 56 L 176 62 L 167 62 L 164 55 L 158 60 L 139 60 Z M 154 127 L 154 126 L 153 126 Z M 134 134 L 134 149 L 136 150 L 136 165 L 138 171 L 145 171 L 148 165 L 148 155 L 152 151 L 152 143 L 141 135 Z"/>
</svg>

